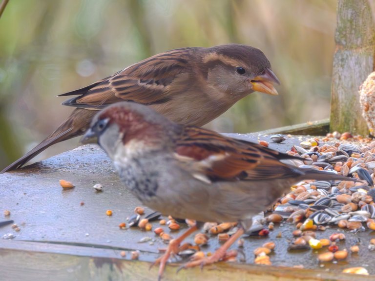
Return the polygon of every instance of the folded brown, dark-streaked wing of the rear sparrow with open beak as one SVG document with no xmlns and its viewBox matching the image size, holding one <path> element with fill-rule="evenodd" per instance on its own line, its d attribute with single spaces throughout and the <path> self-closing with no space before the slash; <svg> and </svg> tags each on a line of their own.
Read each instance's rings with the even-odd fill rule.
<svg viewBox="0 0 375 281">
<path fill-rule="evenodd" d="M 118 101 L 159 104 L 171 99 L 169 85 L 182 73 L 190 71 L 194 48 L 182 48 L 158 54 L 130 65 L 116 74 L 82 89 L 60 96 L 80 95 L 64 105 L 101 109 Z"/>
</svg>

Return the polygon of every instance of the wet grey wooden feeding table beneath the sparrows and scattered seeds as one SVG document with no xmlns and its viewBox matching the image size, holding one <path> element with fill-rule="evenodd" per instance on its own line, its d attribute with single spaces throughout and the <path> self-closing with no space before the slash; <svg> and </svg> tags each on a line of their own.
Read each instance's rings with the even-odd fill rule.
<svg viewBox="0 0 375 281">
<path fill-rule="evenodd" d="M 269 139 L 259 134 L 230 136 L 250 141 Z M 285 152 L 301 139 L 306 137 L 293 137 L 282 144 L 271 143 L 270 147 Z M 62 190 L 60 179 L 71 181 L 76 187 Z M 103 192 L 92 188 L 95 183 L 103 185 Z M 0 221 L 14 220 L 21 228 L 16 232 L 11 225 L 0 227 L 0 237 L 14 236 L 0 239 L 0 280 L 50 280 L 51 275 L 54 280 L 156 280 L 157 270 L 148 271 L 148 266 L 159 256 L 158 248 L 166 244 L 152 231 L 119 229 L 119 223 L 126 222 L 126 217 L 141 203 L 119 182 L 112 163 L 97 146 L 81 146 L 2 174 L 0 194 Z M 111 217 L 106 216 L 108 209 L 113 211 Z M 4 210 L 11 212 L 10 217 L 3 216 Z M 146 214 L 150 212 L 146 209 Z M 154 228 L 158 226 L 157 222 L 153 223 Z M 259 275 L 262 280 L 350 280 L 353 276 L 340 272 L 351 266 L 365 266 L 375 274 L 372 266 L 375 252 L 367 249 L 369 240 L 375 237 L 372 232 L 345 232 L 347 240 L 340 242 L 340 248 L 359 244 L 359 254 L 349 254 L 346 261 L 336 264 L 319 264 L 317 253 L 324 250 L 287 251 L 293 229 L 292 224 L 283 223 L 276 225 L 269 237 L 245 238 L 244 258 L 240 255 L 244 259 L 242 263 L 220 263 L 202 272 L 182 270 L 178 275 L 175 274 L 178 264 L 174 264 L 167 267 L 165 280 L 244 280 Z M 167 227 L 165 230 L 173 237 L 179 235 Z M 317 232 L 317 238 L 328 238 L 335 231 L 331 228 Z M 280 232 L 281 238 L 276 238 Z M 145 237 L 152 240 L 139 243 Z M 187 241 L 192 242 L 192 237 Z M 273 266 L 252 265 L 252 251 L 266 241 L 276 242 L 275 252 L 271 254 Z M 213 252 L 219 246 L 213 237 L 203 250 Z M 140 261 L 130 261 L 133 250 L 140 251 Z M 121 251 L 127 253 L 125 258 L 121 257 Z M 304 265 L 307 269 L 280 267 L 294 265 Z"/>
</svg>

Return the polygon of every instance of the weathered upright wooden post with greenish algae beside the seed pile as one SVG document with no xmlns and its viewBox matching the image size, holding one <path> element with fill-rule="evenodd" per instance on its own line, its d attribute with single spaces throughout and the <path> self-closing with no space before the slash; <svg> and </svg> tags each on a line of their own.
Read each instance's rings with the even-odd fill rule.
<svg viewBox="0 0 375 281">
<path fill-rule="evenodd" d="M 374 71 L 375 25 L 370 1 L 338 0 L 330 130 L 368 135 L 358 89 Z"/>
</svg>

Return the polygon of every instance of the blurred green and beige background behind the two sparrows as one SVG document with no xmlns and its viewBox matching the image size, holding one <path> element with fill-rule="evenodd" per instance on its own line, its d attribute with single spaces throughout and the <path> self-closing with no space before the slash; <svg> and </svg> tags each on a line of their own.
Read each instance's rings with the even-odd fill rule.
<svg viewBox="0 0 375 281">
<path fill-rule="evenodd" d="M 335 13 L 335 0 L 10 0 L 0 19 L 0 169 L 69 115 L 57 95 L 184 46 L 258 47 L 282 83 L 279 96 L 254 93 L 209 128 L 246 133 L 328 118 Z"/>
</svg>

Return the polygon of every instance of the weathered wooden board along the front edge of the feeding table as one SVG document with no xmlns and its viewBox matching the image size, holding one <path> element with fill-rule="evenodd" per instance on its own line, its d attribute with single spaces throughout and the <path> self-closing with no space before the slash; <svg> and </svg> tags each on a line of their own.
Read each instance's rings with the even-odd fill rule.
<svg viewBox="0 0 375 281">
<path fill-rule="evenodd" d="M 89 247 L 66 245 L 40 245 L 36 242 L 6 241 L 0 248 L 0 278 L 8 280 L 38 281 L 104 281 L 104 280 L 157 280 L 157 268 L 149 269 L 145 261 L 127 261 L 108 258 L 103 250 L 98 255 Z M 66 254 L 66 253 L 75 253 Z M 110 254 L 108 254 L 110 256 Z M 176 273 L 180 264 L 168 264 L 163 280 L 165 281 L 228 281 L 228 280 L 262 280 L 262 281 L 370 281 L 372 276 L 353 276 L 334 274 L 327 271 L 298 269 L 289 267 L 262 266 L 238 263 L 217 263 L 216 265 L 181 270 Z"/>
</svg>

